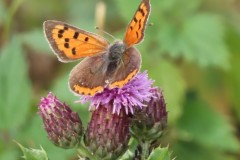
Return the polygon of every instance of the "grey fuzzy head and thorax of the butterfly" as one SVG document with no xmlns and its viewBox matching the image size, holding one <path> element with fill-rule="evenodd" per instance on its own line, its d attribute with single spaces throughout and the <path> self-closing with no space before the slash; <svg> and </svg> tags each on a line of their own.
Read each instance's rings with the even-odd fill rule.
<svg viewBox="0 0 240 160">
<path fill-rule="evenodd" d="M 109 47 L 109 60 L 118 61 L 125 52 L 126 46 L 122 41 L 116 41 Z"/>
</svg>

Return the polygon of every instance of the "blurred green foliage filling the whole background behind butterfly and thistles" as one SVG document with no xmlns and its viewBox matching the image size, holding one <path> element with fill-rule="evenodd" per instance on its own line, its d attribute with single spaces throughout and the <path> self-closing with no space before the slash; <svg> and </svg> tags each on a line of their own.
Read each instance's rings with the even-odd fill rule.
<svg viewBox="0 0 240 160">
<path fill-rule="evenodd" d="M 21 159 L 13 142 L 42 146 L 50 159 L 76 159 L 48 141 L 37 115 L 41 96 L 53 91 L 77 111 L 84 125 L 87 105 L 75 103 L 67 86 L 77 63 L 57 61 L 45 40 L 43 21 L 55 19 L 97 32 L 97 0 L 0 1 L 0 159 Z M 103 0 L 104 29 L 122 39 L 140 0 Z M 165 95 L 169 128 L 162 146 L 178 160 L 240 159 L 240 2 L 151 0 L 142 71 Z"/>
</svg>

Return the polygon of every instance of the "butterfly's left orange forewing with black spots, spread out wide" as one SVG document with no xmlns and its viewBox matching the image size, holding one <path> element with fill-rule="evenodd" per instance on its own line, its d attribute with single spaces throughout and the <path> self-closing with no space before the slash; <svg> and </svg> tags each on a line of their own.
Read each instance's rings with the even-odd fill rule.
<svg viewBox="0 0 240 160">
<path fill-rule="evenodd" d="M 105 53 L 109 46 L 103 37 L 60 21 L 48 20 L 43 26 L 50 46 L 63 62 Z"/>
</svg>

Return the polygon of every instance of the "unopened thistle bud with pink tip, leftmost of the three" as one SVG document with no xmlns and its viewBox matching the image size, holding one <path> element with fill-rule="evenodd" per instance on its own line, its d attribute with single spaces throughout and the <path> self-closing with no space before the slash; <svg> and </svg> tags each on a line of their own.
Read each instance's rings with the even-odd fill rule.
<svg viewBox="0 0 240 160">
<path fill-rule="evenodd" d="M 82 122 L 76 112 L 60 102 L 51 92 L 38 107 L 48 138 L 58 147 L 73 148 L 80 144 Z"/>
</svg>

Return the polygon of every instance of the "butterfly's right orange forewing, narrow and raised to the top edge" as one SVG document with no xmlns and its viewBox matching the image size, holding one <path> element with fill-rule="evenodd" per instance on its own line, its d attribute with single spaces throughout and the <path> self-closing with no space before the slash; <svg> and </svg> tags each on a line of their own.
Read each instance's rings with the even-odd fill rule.
<svg viewBox="0 0 240 160">
<path fill-rule="evenodd" d="M 143 40 L 144 30 L 146 27 L 148 16 L 150 14 L 150 10 L 150 1 L 142 0 L 125 33 L 123 41 L 127 47 L 138 44 Z"/>
</svg>

